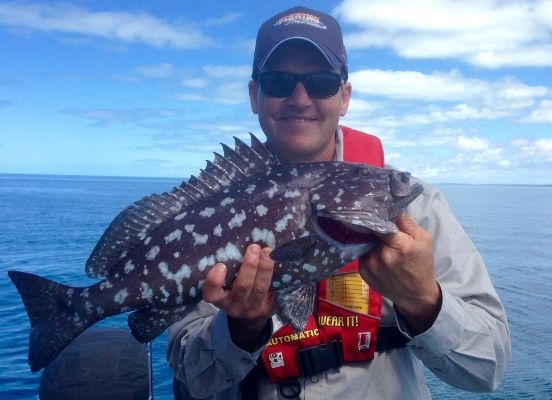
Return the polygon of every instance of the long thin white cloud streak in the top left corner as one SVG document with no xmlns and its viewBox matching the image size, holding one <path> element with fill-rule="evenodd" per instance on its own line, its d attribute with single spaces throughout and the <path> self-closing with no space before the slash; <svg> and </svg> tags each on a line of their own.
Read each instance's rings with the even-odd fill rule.
<svg viewBox="0 0 552 400">
<path fill-rule="evenodd" d="M 0 25 L 90 35 L 154 47 L 199 48 L 213 40 L 190 25 L 172 25 L 145 12 L 90 11 L 70 4 L 0 4 Z"/>
</svg>

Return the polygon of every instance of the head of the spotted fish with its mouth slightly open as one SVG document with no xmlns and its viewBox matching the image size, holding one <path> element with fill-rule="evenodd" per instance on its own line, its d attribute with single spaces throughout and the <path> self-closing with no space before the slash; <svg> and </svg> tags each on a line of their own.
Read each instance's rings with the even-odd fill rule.
<svg viewBox="0 0 552 400">
<path fill-rule="evenodd" d="M 398 231 L 395 219 L 422 191 L 408 172 L 328 163 L 325 179 L 310 190 L 313 225 L 323 240 L 359 256 Z"/>
</svg>

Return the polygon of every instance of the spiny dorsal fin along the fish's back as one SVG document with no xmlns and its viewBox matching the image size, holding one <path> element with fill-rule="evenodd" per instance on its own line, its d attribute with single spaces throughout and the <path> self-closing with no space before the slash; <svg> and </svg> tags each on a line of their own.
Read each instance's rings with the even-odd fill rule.
<svg viewBox="0 0 552 400">
<path fill-rule="evenodd" d="M 85 267 L 88 276 L 110 276 L 117 272 L 127 252 L 146 240 L 160 225 L 192 204 L 278 164 L 264 144 L 250 135 L 251 146 L 234 138 L 235 149 L 222 145 L 224 156 L 215 153 L 213 161 L 208 161 L 197 177 L 192 175 L 169 193 L 152 194 L 121 211 L 90 254 Z"/>
</svg>

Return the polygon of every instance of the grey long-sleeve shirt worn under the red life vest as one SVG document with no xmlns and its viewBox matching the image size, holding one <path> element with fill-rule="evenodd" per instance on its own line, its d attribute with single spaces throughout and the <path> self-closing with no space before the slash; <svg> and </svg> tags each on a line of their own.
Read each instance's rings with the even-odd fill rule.
<svg viewBox="0 0 552 400">
<path fill-rule="evenodd" d="M 340 139 L 338 132 L 338 160 L 343 154 Z M 370 362 L 299 378 L 301 398 L 429 399 L 422 364 L 461 389 L 490 391 L 500 384 L 511 356 L 508 324 L 477 249 L 431 186 L 425 186 L 408 213 L 433 237 L 435 276 L 443 295 L 437 319 L 407 347 L 376 353 Z M 279 324 L 275 317 L 272 333 Z M 393 325 L 409 336 L 400 315 L 384 299 L 382 326 Z M 232 343 L 225 313 L 204 302 L 169 328 L 169 365 L 197 398 L 240 399 L 239 382 L 262 350 L 264 346 L 249 353 Z M 259 398 L 280 398 L 277 386 L 260 378 Z"/>
</svg>

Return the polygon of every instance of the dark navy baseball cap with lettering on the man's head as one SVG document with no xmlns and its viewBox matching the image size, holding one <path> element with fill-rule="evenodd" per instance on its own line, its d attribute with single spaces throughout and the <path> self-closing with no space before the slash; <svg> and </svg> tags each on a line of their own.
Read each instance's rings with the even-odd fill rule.
<svg viewBox="0 0 552 400">
<path fill-rule="evenodd" d="M 339 23 L 331 15 L 306 7 L 283 11 L 261 25 L 255 43 L 253 80 L 257 79 L 274 50 L 288 40 L 305 40 L 314 45 L 347 80 L 347 52 Z"/>
</svg>

